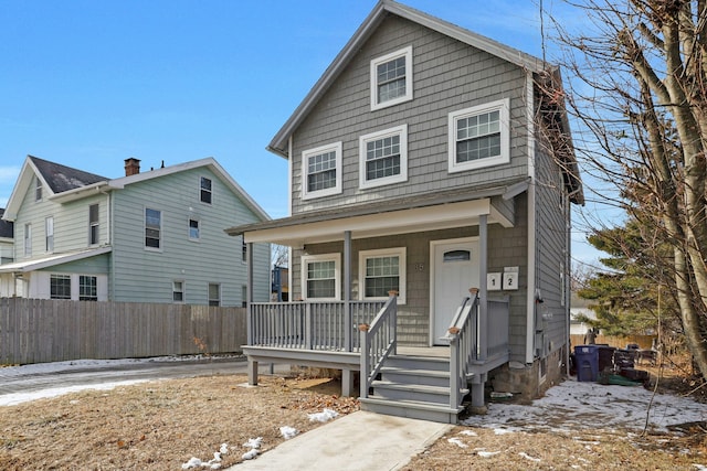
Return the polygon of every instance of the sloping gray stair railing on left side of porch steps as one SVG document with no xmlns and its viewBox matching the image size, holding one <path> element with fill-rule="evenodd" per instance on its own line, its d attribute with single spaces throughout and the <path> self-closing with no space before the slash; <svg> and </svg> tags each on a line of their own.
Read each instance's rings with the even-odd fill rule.
<svg viewBox="0 0 707 471">
<path fill-rule="evenodd" d="M 362 323 L 360 330 L 361 372 L 360 395 L 368 397 L 373 379 L 390 355 L 394 355 L 398 347 L 395 324 L 398 321 L 398 297 L 391 296 L 376 319 L 368 324 Z"/>
</svg>

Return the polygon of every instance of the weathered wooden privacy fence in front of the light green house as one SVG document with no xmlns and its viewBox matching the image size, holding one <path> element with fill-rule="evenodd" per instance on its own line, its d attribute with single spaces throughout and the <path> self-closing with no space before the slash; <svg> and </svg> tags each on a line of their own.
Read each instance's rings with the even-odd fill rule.
<svg viewBox="0 0 707 471">
<path fill-rule="evenodd" d="M 0 298 L 0 364 L 241 352 L 246 310 Z"/>
</svg>

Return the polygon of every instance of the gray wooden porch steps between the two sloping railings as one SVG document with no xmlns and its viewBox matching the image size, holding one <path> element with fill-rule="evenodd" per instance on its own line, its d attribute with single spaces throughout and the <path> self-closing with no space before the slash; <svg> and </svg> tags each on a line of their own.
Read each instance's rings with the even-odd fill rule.
<svg viewBox="0 0 707 471">
<path fill-rule="evenodd" d="M 456 424 L 463 406 L 450 405 L 450 361 L 394 355 L 387 360 L 361 409 L 378 414 Z"/>
</svg>

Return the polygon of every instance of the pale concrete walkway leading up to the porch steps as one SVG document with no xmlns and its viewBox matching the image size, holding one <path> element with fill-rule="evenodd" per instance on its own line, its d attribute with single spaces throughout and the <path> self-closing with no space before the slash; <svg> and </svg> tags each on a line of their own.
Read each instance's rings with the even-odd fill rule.
<svg viewBox="0 0 707 471">
<path fill-rule="evenodd" d="M 452 426 L 357 411 L 228 468 L 287 471 L 390 471 L 405 465 Z"/>
</svg>

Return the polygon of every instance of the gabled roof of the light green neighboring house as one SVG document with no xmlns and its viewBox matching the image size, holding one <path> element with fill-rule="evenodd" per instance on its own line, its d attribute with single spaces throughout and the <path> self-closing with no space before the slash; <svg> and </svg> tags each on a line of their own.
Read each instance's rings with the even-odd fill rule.
<svg viewBox="0 0 707 471">
<path fill-rule="evenodd" d="M 48 199 L 56 203 L 67 203 L 70 201 L 81 200 L 82 197 L 93 195 L 96 191 L 115 191 L 122 190 L 126 185 L 157 179 L 172 173 L 183 172 L 201 167 L 208 167 L 241 201 L 261 220 L 268 221 L 271 217 L 265 211 L 253 200 L 241 185 L 215 161 L 209 157 L 205 159 L 193 160 L 176 165 L 163 167 L 157 170 L 145 171 L 130 176 L 122 176 L 118 179 L 107 179 L 94 173 L 84 172 L 78 169 L 62 165 L 48 160 L 28 156 L 20 176 L 12 190 L 8 207 L 0 217 L 6 221 L 14 221 L 18 211 L 22 204 L 22 199 L 29 186 L 32 184 L 34 175 L 40 178 L 49 188 Z"/>
</svg>

